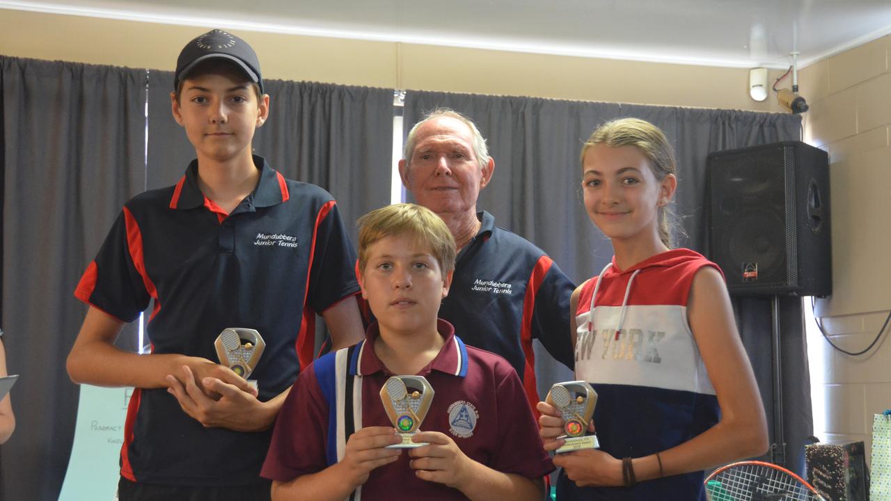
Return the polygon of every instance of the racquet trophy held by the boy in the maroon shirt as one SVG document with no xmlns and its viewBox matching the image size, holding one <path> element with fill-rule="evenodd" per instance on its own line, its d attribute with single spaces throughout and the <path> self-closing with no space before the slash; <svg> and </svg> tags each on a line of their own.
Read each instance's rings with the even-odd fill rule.
<svg viewBox="0 0 891 501">
<path fill-rule="evenodd" d="M 430 402 L 433 401 L 433 387 L 424 376 L 389 378 L 380 389 L 380 400 L 390 422 L 402 436 L 402 443 L 387 446 L 388 448 L 418 448 L 427 445 L 412 441 L 430 410 Z"/>
</svg>

